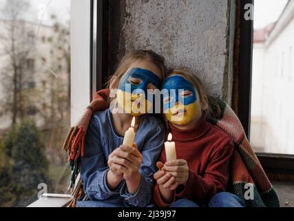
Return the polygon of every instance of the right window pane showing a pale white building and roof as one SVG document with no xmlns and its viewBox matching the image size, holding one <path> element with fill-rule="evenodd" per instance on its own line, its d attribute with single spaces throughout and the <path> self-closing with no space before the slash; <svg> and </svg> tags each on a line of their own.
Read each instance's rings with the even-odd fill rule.
<svg viewBox="0 0 294 221">
<path fill-rule="evenodd" d="M 251 144 L 294 154 L 294 1 L 254 1 Z"/>
</svg>

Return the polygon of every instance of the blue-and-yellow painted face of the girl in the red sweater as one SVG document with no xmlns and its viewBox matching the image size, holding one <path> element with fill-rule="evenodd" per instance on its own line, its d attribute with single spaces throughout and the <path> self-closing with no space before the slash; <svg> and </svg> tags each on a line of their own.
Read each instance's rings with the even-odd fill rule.
<svg viewBox="0 0 294 221">
<path fill-rule="evenodd" d="M 196 90 L 184 77 L 174 75 L 165 79 L 162 89 L 163 111 L 168 121 L 176 125 L 191 122 L 198 114 L 198 99 Z"/>
</svg>

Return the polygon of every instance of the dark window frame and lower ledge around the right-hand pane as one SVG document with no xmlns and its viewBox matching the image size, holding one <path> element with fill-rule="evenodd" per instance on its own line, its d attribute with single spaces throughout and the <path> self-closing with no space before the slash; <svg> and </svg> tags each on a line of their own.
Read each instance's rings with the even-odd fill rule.
<svg viewBox="0 0 294 221">
<path fill-rule="evenodd" d="M 253 59 L 253 20 L 244 19 L 245 5 L 254 0 L 240 1 L 240 44 L 238 59 L 238 117 L 244 131 L 250 139 L 251 123 L 251 83 L 252 83 L 252 59 Z M 264 171 L 270 173 L 274 179 L 278 173 L 286 174 L 277 180 L 294 180 L 294 155 L 277 153 L 255 153 L 262 164 Z M 274 175 L 275 174 L 275 175 Z M 270 176 L 271 176 L 270 175 Z"/>
</svg>

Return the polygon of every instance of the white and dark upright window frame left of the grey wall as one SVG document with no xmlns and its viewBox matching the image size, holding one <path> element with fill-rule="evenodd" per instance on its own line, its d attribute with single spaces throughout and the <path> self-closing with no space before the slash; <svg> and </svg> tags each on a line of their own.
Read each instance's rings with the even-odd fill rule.
<svg viewBox="0 0 294 221">
<path fill-rule="evenodd" d="M 108 77 L 107 19 L 108 0 L 71 0 L 72 126 Z"/>
</svg>

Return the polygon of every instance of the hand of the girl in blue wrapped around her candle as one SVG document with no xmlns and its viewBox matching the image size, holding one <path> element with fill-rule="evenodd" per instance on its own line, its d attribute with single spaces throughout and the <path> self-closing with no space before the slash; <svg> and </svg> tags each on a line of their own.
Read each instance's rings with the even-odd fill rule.
<svg viewBox="0 0 294 221">
<path fill-rule="evenodd" d="M 114 168 L 123 173 L 125 180 L 132 180 L 134 177 L 138 177 L 139 168 L 142 164 L 143 155 L 134 146 L 121 145 L 116 150 L 116 157 L 114 158 Z"/>
</svg>

